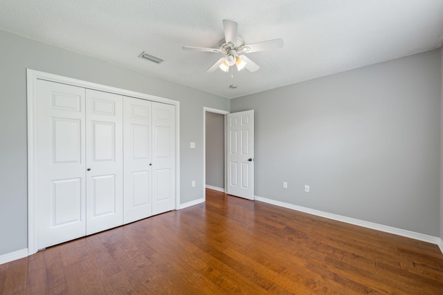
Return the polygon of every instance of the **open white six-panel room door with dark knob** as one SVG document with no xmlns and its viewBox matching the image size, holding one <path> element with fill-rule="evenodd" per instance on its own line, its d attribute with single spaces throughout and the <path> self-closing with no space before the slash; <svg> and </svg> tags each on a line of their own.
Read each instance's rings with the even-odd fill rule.
<svg viewBox="0 0 443 295">
<path fill-rule="evenodd" d="M 228 114 L 226 193 L 254 198 L 254 111 Z"/>
</svg>

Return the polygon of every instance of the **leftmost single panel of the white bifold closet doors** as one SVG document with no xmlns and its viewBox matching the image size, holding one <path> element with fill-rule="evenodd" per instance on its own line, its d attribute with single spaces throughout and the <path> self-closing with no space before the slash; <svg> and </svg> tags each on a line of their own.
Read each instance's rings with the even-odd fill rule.
<svg viewBox="0 0 443 295">
<path fill-rule="evenodd" d="M 84 88 L 37 80 L 37 249 L 86 234 Z"/>
</svg>

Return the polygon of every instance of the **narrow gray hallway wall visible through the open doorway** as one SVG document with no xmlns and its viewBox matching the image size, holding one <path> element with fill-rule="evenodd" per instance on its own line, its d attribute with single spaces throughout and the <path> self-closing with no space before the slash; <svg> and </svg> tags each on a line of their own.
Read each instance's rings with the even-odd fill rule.
<svg viewBox="0 0 443 295">
<path fill-rule="evenodd" d="M 224 189 L 224 115 L 206 112 L 206 184 Z"/>
</svg>

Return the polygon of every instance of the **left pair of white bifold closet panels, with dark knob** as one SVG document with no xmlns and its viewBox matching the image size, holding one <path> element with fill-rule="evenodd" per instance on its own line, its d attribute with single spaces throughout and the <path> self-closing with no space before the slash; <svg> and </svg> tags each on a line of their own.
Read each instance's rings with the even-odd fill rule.
<svg viewBox="0 0 443 295">
<path fill-rule="evenodd" d="M 37 82 L 37 247 L 123 224 L 123 97 Z"/>
</svg>

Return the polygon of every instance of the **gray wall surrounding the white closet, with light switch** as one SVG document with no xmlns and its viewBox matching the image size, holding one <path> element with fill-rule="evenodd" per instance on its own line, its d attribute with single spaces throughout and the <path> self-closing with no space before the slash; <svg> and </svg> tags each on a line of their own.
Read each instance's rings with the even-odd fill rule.
<svg viewBox="0 0 443 295">
<path fill-rule="evenodd" d="M 228 99 L 8 32 L 0 44 L 0 255 L 28 247 L 26 68 L 180 101 L 181 203 L 203 197 L 203 107 L 229 111 Z"/>
</svg>

